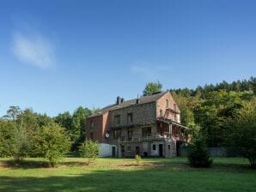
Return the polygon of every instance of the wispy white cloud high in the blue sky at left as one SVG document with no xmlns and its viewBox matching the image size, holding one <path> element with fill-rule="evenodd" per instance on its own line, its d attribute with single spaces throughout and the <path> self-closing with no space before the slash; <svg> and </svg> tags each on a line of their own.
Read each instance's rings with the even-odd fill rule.
<svg viewBox="0 0 256 192">
<path fill-rule="evenodd" d="M 14 33 L 12 51 L 22 63 L 41 69 L 51 68 L 55 63 L 53 45 L 39 33 Z"/>
</svg>

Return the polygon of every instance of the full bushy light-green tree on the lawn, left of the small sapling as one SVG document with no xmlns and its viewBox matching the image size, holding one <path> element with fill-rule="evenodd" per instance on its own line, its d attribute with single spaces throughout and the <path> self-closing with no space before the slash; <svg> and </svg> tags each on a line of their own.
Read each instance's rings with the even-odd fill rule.
<svg viewBox="0 0 256 192">
<path fill-rule="evenodd" d="M 58 165 L 64 153 L 70 150 L 70 138 L 57 123 L 43 126 L 35 141 L 34 153 L 48 159 L 52 167 Z"/>
</svg>

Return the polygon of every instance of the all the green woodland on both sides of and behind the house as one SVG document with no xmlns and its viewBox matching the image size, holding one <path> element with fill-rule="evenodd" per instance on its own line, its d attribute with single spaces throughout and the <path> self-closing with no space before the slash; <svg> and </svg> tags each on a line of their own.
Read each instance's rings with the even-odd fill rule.
<svg viewBox="0 0 256 192">
<path fill-rule="evenodd" d="M 160 82 L 150 82 L 143 95 L 161 89 Z M 239 141 L 241 155 L 253 156 L 255 161 L 256 77 L 170 92 L 180 107 L 181 123 L 190 128 L 194 138 L 204 137 L 208 147 L 238 148 Z M 51 159 L 56 153 L 54 147 L 60 148 L 58 153 L 76 151 L 85 140 L 85 120 L 92 113 L 94 110 L 80 106 L 72 114 L 65 111 L 49 117 L 9 106 L 0 118 L 0 156 Z"/>
</svg>

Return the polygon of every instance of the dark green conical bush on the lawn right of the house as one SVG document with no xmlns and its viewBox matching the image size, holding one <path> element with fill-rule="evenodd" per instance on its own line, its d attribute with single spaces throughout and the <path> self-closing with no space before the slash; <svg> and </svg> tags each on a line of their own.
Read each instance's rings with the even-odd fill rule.
<svg viewBox="0 0 256 192">
<path fill-rule="evenodd" d="M 189 145 L 188 161 L 192 167 L 210 167 L 212 159 L 203 138 L 198 138 Z"/>
</svg>

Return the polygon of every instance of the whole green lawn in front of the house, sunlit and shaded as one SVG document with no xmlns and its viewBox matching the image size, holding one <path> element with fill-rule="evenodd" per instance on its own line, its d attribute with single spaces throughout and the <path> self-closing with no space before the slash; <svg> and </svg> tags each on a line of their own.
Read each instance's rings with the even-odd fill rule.
<svg viewBox="0 0 256 192">
<path fill-rule="evenodd" d="M 67 158 L 58 168 L 44 159 L 26 159 L 19 167 L 0 159 L 0 191 L 255 191 L 256 171 L 245 159 L 214 159 L 210 169 L 193 169 L 186 159 Z"/>
</svg>

